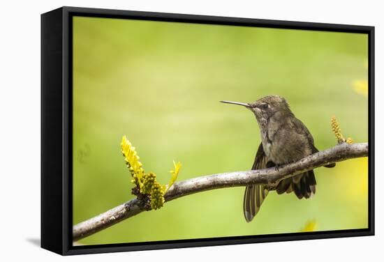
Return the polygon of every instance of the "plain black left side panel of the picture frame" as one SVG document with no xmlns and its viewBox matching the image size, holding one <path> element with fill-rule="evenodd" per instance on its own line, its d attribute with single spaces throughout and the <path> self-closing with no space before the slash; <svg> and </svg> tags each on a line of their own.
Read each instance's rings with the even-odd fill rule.
<svg viewBox="0 0 384 262">
<path fill-rule="evenodd" d="M 41 247 L 63 254 L 62 10 L 41 15 Z"/>
</svg>

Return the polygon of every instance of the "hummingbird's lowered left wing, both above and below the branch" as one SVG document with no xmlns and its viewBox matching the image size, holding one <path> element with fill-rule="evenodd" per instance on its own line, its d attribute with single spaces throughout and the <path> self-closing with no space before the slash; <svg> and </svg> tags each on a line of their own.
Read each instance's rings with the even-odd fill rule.
<svg viewBox="0 0 384 262">
<path fill-rule="evenodd" d="M 265 169 L 268 166 L 272 166 L 271 162 L 268 162 L 267 156 L 263 150 L 263 144 L 258 147 L 255 161 L 253 162 L 252 170 Z M 264 185 L 249 185 L 244 192 L 243 210 L 246 222 L 251 222 L 253 217 L 260 210 L 260 206 L 263 203 L 265 197 L 267 197 L 268 190 Z"/>
</svg>

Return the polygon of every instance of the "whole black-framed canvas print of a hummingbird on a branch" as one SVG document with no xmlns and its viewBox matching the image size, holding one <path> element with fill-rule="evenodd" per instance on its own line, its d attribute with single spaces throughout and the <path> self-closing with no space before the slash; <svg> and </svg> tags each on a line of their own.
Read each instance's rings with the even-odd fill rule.
<svg viewBox="0 0 384 262">
<path fill-rule="evenodd" d="M 52 252 L 373 235 L 373 141 L 373 26 L 41 15 Z"/>
</svg>

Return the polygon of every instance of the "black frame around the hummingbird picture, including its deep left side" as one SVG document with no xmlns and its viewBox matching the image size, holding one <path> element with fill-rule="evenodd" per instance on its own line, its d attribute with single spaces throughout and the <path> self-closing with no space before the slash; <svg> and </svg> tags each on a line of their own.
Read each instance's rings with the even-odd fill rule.
<svg viewBox="0 0 384 262">
<path fill-rule="evenodd" d="M 369 39 L 369 226 L 198 240 L 72 245 L 72 17 L 188 22 L 367 33 Z M 59 143 L 58 141 L 61 141 Z M 62 255 L 374 235 L 374 26 L 61 7 L 41 15 L 41 247 Z"/>
</svg>

